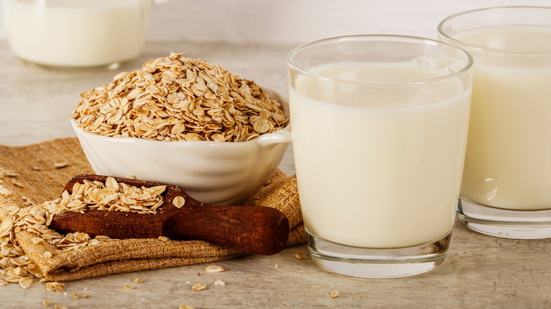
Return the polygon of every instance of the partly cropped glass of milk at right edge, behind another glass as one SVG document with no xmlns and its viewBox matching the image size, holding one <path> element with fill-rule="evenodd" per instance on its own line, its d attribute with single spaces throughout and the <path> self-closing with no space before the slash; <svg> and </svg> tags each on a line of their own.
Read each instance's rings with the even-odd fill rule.
<svg viewBox="0 0 551 309">
<path fill-rule="evenodd" d="M 551 237 L 551 8 L 467 11 L 438 32 L 475 59 L 458 218 L 492 236 Z"/>
</svg>

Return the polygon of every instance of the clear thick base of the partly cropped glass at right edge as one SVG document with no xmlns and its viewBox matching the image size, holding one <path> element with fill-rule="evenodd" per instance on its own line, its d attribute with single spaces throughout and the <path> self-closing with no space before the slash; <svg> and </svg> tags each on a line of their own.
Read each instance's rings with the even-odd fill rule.
<svg viewBox="0 0 551 309">
<path fill-rule="evenodd" d="M 461 198 L 457 217 L 469 229 L 502 238 L 551 238 L 551 210 L 506 210 Z"/>
</svg>

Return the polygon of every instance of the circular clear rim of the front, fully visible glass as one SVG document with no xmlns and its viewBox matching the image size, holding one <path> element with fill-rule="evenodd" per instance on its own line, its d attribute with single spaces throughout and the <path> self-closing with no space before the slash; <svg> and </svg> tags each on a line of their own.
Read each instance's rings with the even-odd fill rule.
<svg viewBox="0 0 551 309">
<path fill-rule="evenodd" d="M 465 55 L 466 56 L 466 64 L 462 68 L 458 69 L 456 72 L 449 72 L 446 75 L 437 76 L 435 78 L 420 78 L 418 80 L 412 80 L 412 81 L 409 81 L 409 82 L 396 82 L 396 83 L 381 82 L 381 83 L 377 83 L 377 82 L 372 82 L 372 81 L 365 82 L 365 81 L 361 81 L 361 80 L 347 80 L 347 79 L 343 79 L 343 78 L 334 78 L 334 77 L 329 76 L 329 75 L 323 75 L 323 74 L 315 73 L 313 71 L 310 71 L 307 68 L 301 68 L 296 63 L 294 63 L 294 61 L 292 61 L 293 57 L 296 54 L 298 54 L 299 52 L 301 52 L 303 50 L 306 50 L 306 49 L 319 47 L 319 46 L 324 46 L 324 45 L 330 44 L 332 42 L 350 42 L 350 41 L 354 41 L 354 40 L 362 39 L 362 38 L 364 38 L 364 39 L 365 38 L 387 39 L 387 40 L 390 39 L 390 40 L 393 40 L 393 42 L 398 42 L 399 40 L 408 40 L 410 42 L 420 42 L 420 43 L 429 44 L 429 45 L 432 45 L 432 46 L 435 46 L 435 47 L 439 46 L 439 45 L 440 46 L 446 46 L 446 47 L 449 47 L 450 49 L 454 49 L 457 52 Z M 345 35 L 345 36 L 340 36 L 340 37 L 328 37 L 326 39 L 321 39 L 321 40 L 316 40 L 316 41 L 308 42 L 308 43 L 305 43 L 305 44 L 301 44 L 301 45 L 295 47 L 294 49 L 292 49 L 289 52 L 288 56 L 287 56 L 288 67 L 291 68 L 293 71 L 297 71 L 298 73 L 301 73 L 302 75 L 306 75 L 306 76 L 309 76 L 311 78 L 319 78 L 319 79 L 324 79 L 324 80 L 337 81 L 337 82 L 341 82 L 341 83 L 356 83 L 356 84 L 365 84 L 365 85 L 422 85 L 422 84 L 427 84 L 427 83 L 435 83 L 435 82 L 438 82 L 440 80 L 448 80 L 449 78 L 454 78 L 458 75 L 462 75 L 462 74 L 466 73 L 467 71 L 469 71 L 473 67 L 473 63 L 474 63 L 473 56 L 471 56 L 465 49 L 463 49 L 462 47 L 459 47 L 457 45 L 450 44 L 448 42 L 428 39 L 428 38 L 425 38 L 425 37 L 414 37 L 414 36 L 409 36 L 409 35 L 384 35 L 384 34 Z"/>
</svg>

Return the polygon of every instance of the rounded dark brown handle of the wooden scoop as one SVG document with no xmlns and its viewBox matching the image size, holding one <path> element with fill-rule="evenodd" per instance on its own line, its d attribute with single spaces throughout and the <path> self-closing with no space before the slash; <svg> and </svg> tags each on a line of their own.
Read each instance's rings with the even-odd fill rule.
<svg viewBox="0 0 551 309">
<path fill-rule="evenodd" d="M 272 255 L 287 244 L 289 220 L 283 212 L 271 207 L 199 203 L 174 212 L 163 224 L 162 234 L 220 243 L 247 253 Z"/>
</svg>

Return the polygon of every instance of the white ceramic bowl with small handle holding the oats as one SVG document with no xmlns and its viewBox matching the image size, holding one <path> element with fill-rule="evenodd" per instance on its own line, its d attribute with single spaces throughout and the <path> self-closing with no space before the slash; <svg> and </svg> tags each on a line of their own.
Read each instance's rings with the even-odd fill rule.
<svg viewBox="0 0 551 309">
<path fill-rule="evenodd" d="M 287 99 L 263 89 L 289 116 Z M 109 138 L 85 133 L 73 119 L 71 124 L 96 174 L 174 184 L 191 198 L 215 205 L 239 205 L 260 190 L 291 141 L 290 125 L 233 143 Z"/>
</svg>

